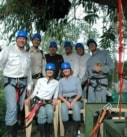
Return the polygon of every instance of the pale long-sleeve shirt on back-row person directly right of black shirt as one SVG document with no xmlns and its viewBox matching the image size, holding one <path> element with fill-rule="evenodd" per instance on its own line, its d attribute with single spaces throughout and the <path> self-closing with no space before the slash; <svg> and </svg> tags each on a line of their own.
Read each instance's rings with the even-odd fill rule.
<svg viewBox="0 0 127 137">
<path fill-rule="evenodd" d="M 79 58 L 76 53 L 72 53 L 70 55 L 63 56 L 64 61 L 69 62 L 71 64 L 71 68 L 73 70 L 73 76 L 78 76 L 79 74 Z"/>
</svg>

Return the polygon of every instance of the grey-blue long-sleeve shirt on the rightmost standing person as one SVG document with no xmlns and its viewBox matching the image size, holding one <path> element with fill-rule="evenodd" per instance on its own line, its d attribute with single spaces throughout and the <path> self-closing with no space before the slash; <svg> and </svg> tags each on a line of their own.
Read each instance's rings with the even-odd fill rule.
<svg viewBox="0 0 127 137">
<path fill-rule="evenodd" d="M 93 67 L 97 64 L 101 64 L 102 73 L 93 72 Z M 105 50 L 97 49 L 96 53 L 93 54 L 87 61 L 87 70 L 85 76 L 82 79 L 82 83 L 86 80 L 94 77 L 94 78 L 105 78 L 109 72 L 114 69 L 114 63 L 109 55 L 109 53 Z"/>
</svg>

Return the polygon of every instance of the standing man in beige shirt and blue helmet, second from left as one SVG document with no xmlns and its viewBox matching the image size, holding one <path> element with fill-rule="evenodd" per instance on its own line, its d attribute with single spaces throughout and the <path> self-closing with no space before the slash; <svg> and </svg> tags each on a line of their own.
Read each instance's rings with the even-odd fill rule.
<svg viewBox="0 0 127 137">
<path fill-rule="evenodd" d="M 39 49 L 41 43 L 40 33 L 35 33 L 32 36 L 32 46 L 29 50 L 29 55 L 31 57 L 31 69 L 32 69 L 32 79 L 33 88 L 40 77 L 43 77 L 43 70 L 46 64 L 43 51 Z"/>
</svg>

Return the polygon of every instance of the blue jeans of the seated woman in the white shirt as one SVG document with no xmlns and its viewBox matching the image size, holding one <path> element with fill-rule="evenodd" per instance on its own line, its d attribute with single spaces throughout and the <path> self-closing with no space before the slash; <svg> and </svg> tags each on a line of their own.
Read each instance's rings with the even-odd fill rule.
<svg viewBox="0 0 127 137">
<path fill-rule="evenodd" d="M 54 108 L 51 104 L 46 104 L 44 106 L 41 106 L 39 108 L 38 114 L 38 123 L 44 124 L 44 123 L 53 123 L 54 118 Z"/>
</svg>

